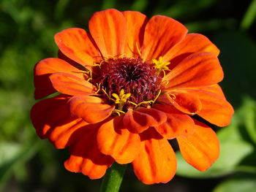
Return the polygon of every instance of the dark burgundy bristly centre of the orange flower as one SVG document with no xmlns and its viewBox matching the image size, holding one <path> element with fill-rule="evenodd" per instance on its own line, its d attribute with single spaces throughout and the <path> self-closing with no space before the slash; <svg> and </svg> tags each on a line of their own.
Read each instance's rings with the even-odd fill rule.
<svg viewBox="0 0 256 192">
<path fill-rule="evenodd" d="M 92 82 L 108 99 L 113 93 L 114 98 L 129 93 L 121 109 L 124 112 L 135 104 L 148 107 L 150 102 L 147 101 L 153 101 L 161 88 L 162 78 L 157 75 L 154 65 L 140 58 L 109 58 L 100 62 L 98 74 Z"/>
</svg>

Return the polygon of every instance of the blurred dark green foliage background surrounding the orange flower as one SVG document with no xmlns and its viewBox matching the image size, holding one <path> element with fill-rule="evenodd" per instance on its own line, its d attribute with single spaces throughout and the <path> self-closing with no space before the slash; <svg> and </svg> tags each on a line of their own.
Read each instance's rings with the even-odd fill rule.
<svg viewBox="0 0 256 192">
<path fill-rule="evenodd" d="M 230 126 L 217 128 L 221 154 L 207 172 L 184 163 L 177 152 L 178 172 L 169 183 L 143 185 L 129 166 L 121 191 L 255 191 L 255 0 L 0 0 L 0 191 L 99 190 L 101 180 L 64 169 L 68 151 L 37 137 L 29 110 L 35 102 L 34 65 L 57 55 L 54 34 L 87 29 L 91 14 L 108 8 L 167 15 L 189 32 L 205 34 L 221 50 L 221 85 L 236 110 Z"/>
</svg>

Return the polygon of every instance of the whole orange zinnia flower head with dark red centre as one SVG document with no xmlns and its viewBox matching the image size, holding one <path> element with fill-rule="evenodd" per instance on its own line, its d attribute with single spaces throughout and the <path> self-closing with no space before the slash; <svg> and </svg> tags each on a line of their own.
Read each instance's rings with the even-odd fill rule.
<svg viewBox="0 0 256 192">
<path fill-rule="evenodd" d="M 218 48 L 178 21 L 107 9 L 89 31 L 55 36 L 59 58 L 35 66 L 31 120 L 42 139 L 69 147 L 64 166 L 91 179 L 116 161 L 132 163 L 146 184 L 167 183 L 177 139 L 184 159 L 200 171 L 219 156 L 217 135 L 198 121 L 227 126 L 233 107 L 217 84 L 223 78 Z"/>
</svg>

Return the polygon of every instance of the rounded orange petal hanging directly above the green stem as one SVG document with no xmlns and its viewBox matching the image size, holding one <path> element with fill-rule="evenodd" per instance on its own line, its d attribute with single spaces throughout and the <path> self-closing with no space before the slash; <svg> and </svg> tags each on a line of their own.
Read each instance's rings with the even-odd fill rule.
<svg viewBox="0 0 256 192">
<path fill-rule="evenodd" d="M 112 156 L 118 164 L 129 164 L 138 155 L 140 137 L 123 128 L 121 117 L 116 117 L 100 126 L 97 134 L 99 150 Z"/>
</svg>

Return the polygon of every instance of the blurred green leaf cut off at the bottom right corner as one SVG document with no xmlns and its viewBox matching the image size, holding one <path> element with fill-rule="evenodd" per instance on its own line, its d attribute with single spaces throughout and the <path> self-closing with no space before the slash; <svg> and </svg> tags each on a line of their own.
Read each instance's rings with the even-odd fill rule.
<svg viewBox="0 0 256 192">
<path fill-rule="evenodd" d="M 214 192 L 254 192 L 256 188 L 256 176 L 241 175 L 233 177 L 232 179 L 225 180 L 217 185 Z"/>
</svg>

